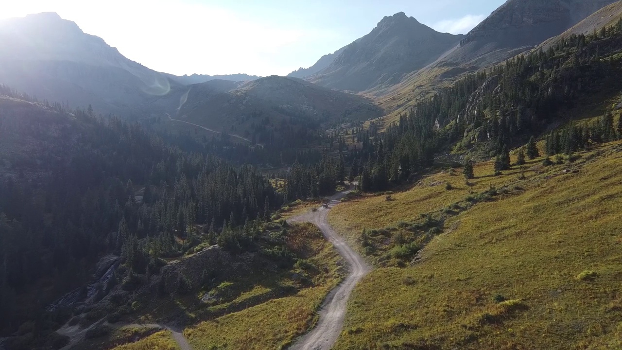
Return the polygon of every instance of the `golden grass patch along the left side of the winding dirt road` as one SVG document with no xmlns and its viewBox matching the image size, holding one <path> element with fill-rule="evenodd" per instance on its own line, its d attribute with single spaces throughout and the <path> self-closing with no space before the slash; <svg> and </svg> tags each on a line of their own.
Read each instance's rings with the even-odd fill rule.
<svg viewBox="0 0 622 350">
<path fill-rule="evenodd" d="M 287 245 L 308 262 L 292 273 L 308 276 L 310 286 L 186 329 L 184 335 L 194 349 L 281 349 L 310 328 L 328 291 L 341 280 L 339 257 L 310 224 L 291 229 Z"/>
</svg>

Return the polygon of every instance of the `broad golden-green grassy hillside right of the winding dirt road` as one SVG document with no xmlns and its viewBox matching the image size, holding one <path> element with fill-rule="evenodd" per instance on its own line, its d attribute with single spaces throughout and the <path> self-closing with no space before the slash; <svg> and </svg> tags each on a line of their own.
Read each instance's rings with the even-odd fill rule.
<svg viewBox="0 0 622 350">
<path fill-rule="evenodd" d="M 621 150 L 608 144 L 570 166 L 541 168 L 537 159 L 525 180 L 516 170 L 486 177 L 492 164 L 478 164 L 475 192 L 524 191 L 447 217 L 415 265 L 371 272 L 353 293 L 335 349 L 622 348 Z M 437 181 L 458 189 L 430 186 Z M 462 174 L 436 174 L 395 201 L 337 206 L 330 220 L 357 242 L 360 229 L 467 194 Z"/>
</svg>

